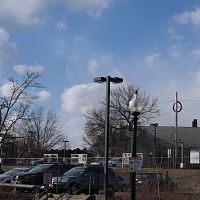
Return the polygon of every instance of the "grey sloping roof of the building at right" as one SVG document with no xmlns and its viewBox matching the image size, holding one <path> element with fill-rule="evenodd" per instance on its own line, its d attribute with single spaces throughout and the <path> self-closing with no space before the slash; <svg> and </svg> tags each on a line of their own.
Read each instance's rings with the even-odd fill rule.
<svg viewBox="0 0 200 200">
<path fill-rule="evenodd" d="M 155 135 L 153 126 L 141 127 L 150 135 Z M 156 137 L 174 144 L 175 127 L 173 126 L 158 126 L 156 127 Z M 177 142 L 183 140 L 185 148 L 200 148 L 200 127 L 178 127 Z"/>
</svg>

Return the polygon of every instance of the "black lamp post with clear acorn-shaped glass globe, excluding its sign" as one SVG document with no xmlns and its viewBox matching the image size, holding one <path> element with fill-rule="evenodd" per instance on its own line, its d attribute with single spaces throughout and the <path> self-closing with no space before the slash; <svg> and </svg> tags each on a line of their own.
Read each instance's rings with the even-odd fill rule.
<svg viewBox="0 0 200 200">
<path fill-rule="evenodd" d="M 137 90 L 134 94 L 133 99 L 129 102 L 129 110 L 131 111 L 131 114 L 133 115 L 133 126 L 134 126 L 134 132 L 131 135 L 131 154 L 132 157 L 137 157 L 137 121 L 138 116 L 140 115 L 141 110 L 143 109 L 143 106 L 138 99 L 137 96 Z M 136 172 L 131 172 L 130 174 L 130 181 L 131 181 L 131 200 L 136 200 Z"/>
</svg>

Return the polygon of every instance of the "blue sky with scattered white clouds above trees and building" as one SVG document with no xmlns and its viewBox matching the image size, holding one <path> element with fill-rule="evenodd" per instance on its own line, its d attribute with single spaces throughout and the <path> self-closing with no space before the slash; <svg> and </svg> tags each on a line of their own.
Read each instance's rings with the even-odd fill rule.
<svg viewBox="0 0 200 200">
<path fill-rule="evenodd" d="M 72 148 L 82 148 L 84 114 L 105 97 L 94 77 L 158 97 L 160 126 L 200 114 L 199 0 L 0 0 L 0 92 L 9 77 L 43 73 L 40 104 L 54 110 Z M 111 84 L 111 88 L 114 87 Z M 198 123 L 199 124 L 199 123 Z"/>
</svg>

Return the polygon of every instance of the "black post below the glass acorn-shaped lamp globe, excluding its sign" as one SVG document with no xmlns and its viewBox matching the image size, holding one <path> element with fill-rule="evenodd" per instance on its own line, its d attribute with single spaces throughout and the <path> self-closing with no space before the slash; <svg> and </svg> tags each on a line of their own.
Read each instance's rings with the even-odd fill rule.
<svg viewBox="0 0 200 200">
<path fill-rule="evenodd" d="M 131 154 L 132 157 L 137 157 L 137 120 L 138 112 L 134 112 L 134 131 L 131 135 Z M 136 172 L 131 172 L 131 200 L 136 200 Z"/>
</svg>

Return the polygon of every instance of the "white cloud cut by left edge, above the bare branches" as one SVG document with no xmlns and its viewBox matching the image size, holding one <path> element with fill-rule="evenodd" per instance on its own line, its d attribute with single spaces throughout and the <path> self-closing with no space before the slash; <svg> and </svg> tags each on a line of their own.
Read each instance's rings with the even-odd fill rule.
<svg viewBox="0 0 200 200">
<path fill-rule="evenodd" d="M 9 34 L 4 28 L 0 28 L 0 52 L 0 64 L 16 55 L 16 45 L 9 41 Z"/>
</svg>

